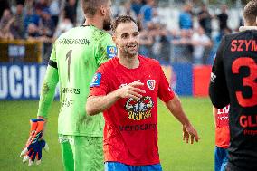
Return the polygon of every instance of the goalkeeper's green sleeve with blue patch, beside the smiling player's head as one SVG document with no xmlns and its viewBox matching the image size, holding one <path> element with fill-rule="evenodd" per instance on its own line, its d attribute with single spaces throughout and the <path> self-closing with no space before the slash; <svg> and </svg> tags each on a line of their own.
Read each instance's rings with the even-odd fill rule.
<svg viewBox="0 0 257 171">
<path fill-rule="evenodd" d="M 100 66 L 103 62 L 108 61 L 110 58 L 113 58 L 117 54 L 117 49 L 115 44 L 112 41 L 111 35 L 105 33 L 97 46 L 96 50 L 96 62 Z"/>
</svg>

